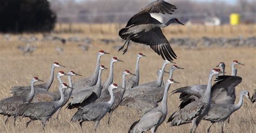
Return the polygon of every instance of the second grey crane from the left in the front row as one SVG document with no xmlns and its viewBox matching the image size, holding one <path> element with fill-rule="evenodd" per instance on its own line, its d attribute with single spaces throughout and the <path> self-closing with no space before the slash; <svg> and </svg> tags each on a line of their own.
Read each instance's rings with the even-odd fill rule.
<svg viewBox="0 0 256 133">
<path fill-rule="evenodd" d="M 60 108 L 64 103 L 64 91 L 66 88 L 71 88 L 65 83 L 59 85 L 60 99 L 58 101 L 45 101 L 23 104 L 18 107 L 15 113 L 15 119 L 17 116 L 29 117 L 30 121 L 26 123 L 28 127 L 29 123 L 35 120 L 41 120 L 43 129 L 45 123 L 49 118 Z"/>
</svg>

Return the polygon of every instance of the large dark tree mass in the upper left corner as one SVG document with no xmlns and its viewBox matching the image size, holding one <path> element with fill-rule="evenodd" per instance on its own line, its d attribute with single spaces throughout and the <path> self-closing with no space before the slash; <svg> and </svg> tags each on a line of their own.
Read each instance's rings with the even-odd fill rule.
<svg viewBox="0 0 256 133">
<path fill-rule="evenodd" d="M 56 14 L 47 0 L 1 0 L 0 32 L 49 32 Z"/>
</svg>

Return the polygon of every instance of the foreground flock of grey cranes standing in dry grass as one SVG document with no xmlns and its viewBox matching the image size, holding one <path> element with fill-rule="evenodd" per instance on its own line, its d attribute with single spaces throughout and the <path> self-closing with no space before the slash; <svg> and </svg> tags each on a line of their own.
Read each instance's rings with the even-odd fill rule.
<svg viewBox="0 0 256 133">
<path fill-rule="evenodd" d="M 178 83 L 172 79 L 173 71 L 180 68 L 172 65 L 169 72 L 164 71 L 170 61 L 165 60 L 161 69 L 157 71 L 158 78 L 152 82 L 139 84 L 139 61 L 145 57 L 144 54 L 137 55 L 135 73 L 125 70 L 122 73 L 122 86 L 113 83 L 113 65 L 115 62 L 123 62 L 117 57 L 110 60 L 109 78 L 102 83 L 102 71 L 107 69 L 104 65 L 100 65 L 100 58 L 109 54 L 100 50 L 97 54 L 97 63 L 95 71 L 91 77 L 83 78 L 77 82 L 72 82 L 72 76 L 81 76 L 74 71 L 65 73 L 59 71 L 57 79 L 59 82 L 58 91 L 49 91 L 53 82 L 54 70 L 57 67 L 64 67 L 55 62 L 51 65 L 50 78 L 43 84 L 34 85 L 36 82 L 43 80 L 33 77 L 30 86 L 14 86 L 11 87 L 12 97 L 2 99 L 0 101 L 0 114 L 7 116 L 4 123 L 9 117 L 14 117 L 14 125 L 18 116 L 29 117 L 29 123 L 35 120 L 42 121 L 43 129 L 46 121 L 53 114 L 58 114 L 60 109 L 66 104 L 66 108 L 77 108 L 77 112 L 73 115 L 71 121 L 79 122 L 81 128 L 85 121 L 95 121 L 95 130 L 99 125 L 99 121 L 109 113 L 107 123 L 110 123 L 111 114 L 118 106 L 127 106 L 140 110 L 143 116 L 140 120 L 134 122 L 129 132 L 143 132 L 151 130 L 156 132 L 160 124 L 162 124 L 167 116 L 167 97 L 171 84 Z M 217 67 L 220 69 L 212 69 L 208 76 L 207 85 L 191 85 L 177 88 L 171 94 L 181 93 L 181 104 L 179 109 L 172 113 L 167 121 L 170 126 L 178 126 L 181 124 L 192 123 L 191 132 L 195 132 L 201 120 L 224 123 L 229 119 L 233 112 L 242 106 L 242 97 L 250 98 L 248 91 L 240 92 L 238 104 L 235 104 L 235 86 L 241 83 L 242 78 L 237 76 L 237 68 L 235 65 L 244 65 L 238 61 L 232 62 L 231 76 L 225 75 L 225 63 L 220 62 Z M 164 73 L 169 73 L 169 79 L 163 83 Z M 132 75 L 126 80 L 127 75 Z M 62 76 L 68 76 L 69 85 L 62 82 Z M 215 76 L 215 84 L 212 85 L 212 77 Z M 255 102 L 256 91 L 252 102 Z M 68 103 L 69 102 L 69 103 Z M 210 132 L 210 128 L 207 132 Z M 221 131 L 223 131 L 223 124 Z"/>
</svg>

